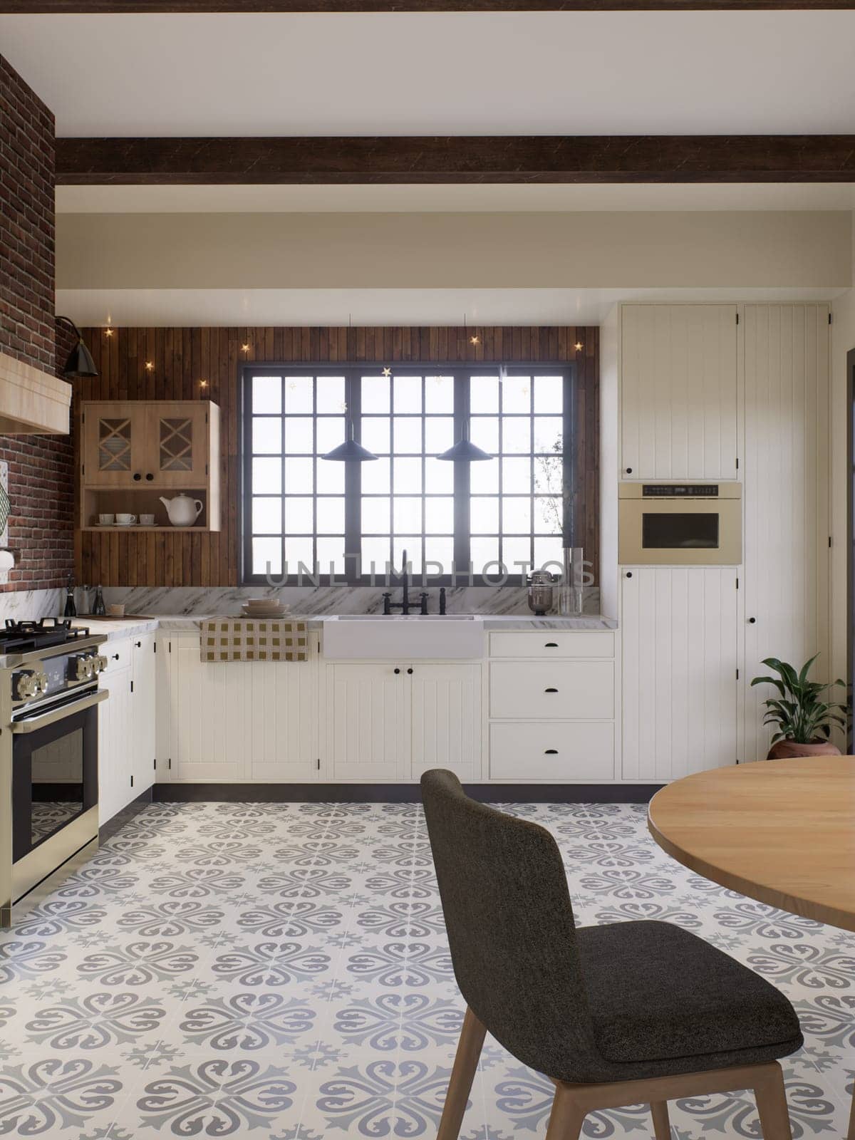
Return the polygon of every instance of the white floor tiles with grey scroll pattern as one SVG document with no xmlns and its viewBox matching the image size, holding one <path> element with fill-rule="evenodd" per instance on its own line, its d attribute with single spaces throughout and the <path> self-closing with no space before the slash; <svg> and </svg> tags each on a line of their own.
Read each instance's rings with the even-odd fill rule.
<svg viewBox="0 0 855 1140">
<path fill-rule="evenodd" d="M 793 1135 L 844 1134 L 855 935 L 684 870 L 643 805 L 505 808 L 555 836 L 578 925 L 673 922 L 787 993 Z M 462 1016 L 417 805 L 152 805 L 0 933 L 0 1132 L 432 1137 Z M 488 1036 L 461 1135 L 542 1137 L 551 1094 Z M 671 1122 L 673 1140 L 758 1135 L 739 1090 Z M 584 1132 L 650 1133 L 645 1106 Z"/>
</svg>

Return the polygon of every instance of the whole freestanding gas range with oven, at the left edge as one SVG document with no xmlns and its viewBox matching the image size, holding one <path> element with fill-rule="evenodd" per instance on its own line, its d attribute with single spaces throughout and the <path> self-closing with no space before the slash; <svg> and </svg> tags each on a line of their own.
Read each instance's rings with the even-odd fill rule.
<svg viewBox="0 0 855 1140">
<path fill-rule="evenodd" d="M 16 646 L 23 652 L 0 657 L 3 926 L 13 903 L 98 841 L 98 706 L 108 697 L 98 687 L 106 666 L 98 645 L 105 638 L 76 634 L 42 624 Z"/>
</svg>

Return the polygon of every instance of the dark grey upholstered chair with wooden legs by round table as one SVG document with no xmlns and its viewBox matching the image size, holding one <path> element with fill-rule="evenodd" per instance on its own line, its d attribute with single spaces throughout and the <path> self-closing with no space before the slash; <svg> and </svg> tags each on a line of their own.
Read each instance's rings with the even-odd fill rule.
<svg viewBox="0 0 855 1140">
<path fill-rule="evenodd" d="M 439 1127 L 456 1140 L 484 1032 L 555 1083 L 547 1140 L 588 1112 L 754 1089 L 764 1140 L 791 1140 L 779 1057 L 801 1045 L 790 1002 L 668 922 L 573 925 L 548 831 L 470 799 L 450 772 L 422 776 L 455 976 L 467 1010 Z"/>
</svg>

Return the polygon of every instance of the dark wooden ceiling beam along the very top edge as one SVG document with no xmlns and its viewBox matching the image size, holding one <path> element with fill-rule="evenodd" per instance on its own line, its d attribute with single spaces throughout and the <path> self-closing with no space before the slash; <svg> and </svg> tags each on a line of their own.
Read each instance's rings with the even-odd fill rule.
<svg viewBox="0 0 855 1140">
<path fill-rule="evenodd" d="M 852 9 L 855 0 L 0 0 L 0 14 L 747 11 Z"/>
</svg>

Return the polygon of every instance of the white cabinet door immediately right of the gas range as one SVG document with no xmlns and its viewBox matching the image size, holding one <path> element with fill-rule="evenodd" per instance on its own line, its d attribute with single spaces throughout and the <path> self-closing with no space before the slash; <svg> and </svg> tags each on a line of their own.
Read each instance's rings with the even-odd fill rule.
<svg viewBox="0 0 855 1140">
<path fill-rule="evenodd" d="M 133 739 L 131 733 L 131 667 L 130 643 L 109 642 L 105 646 L 107 669 L 101 674 L 100 687 L 109 697 L 98 706 L 98 821 L 103 825 L 112 820 L 136 792 L 133 776 Z M 115 661 L 115 653 L 120 661 Z M 120 668 L 114 666 L 121 665 Z"/>
</svg>

